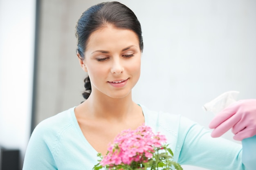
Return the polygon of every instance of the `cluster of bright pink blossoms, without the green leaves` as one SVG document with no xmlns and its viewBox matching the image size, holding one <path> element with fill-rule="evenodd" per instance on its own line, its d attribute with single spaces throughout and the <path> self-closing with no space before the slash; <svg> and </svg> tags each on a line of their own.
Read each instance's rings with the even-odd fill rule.
<svg viewBox="0 0 256 170">
<path fill-rule="evenodd" d="M 108 154 L 103 157 L 101 165 L 114 166 L 133 161 L 147 162 L 153 157 L 155 148 L 166 142 L 164 135 L 155 135 L 149 126 L 139 126 L 136 130 L 124 130 L 115 137 L 113 144 L 109 144 Z"/>
</svg>

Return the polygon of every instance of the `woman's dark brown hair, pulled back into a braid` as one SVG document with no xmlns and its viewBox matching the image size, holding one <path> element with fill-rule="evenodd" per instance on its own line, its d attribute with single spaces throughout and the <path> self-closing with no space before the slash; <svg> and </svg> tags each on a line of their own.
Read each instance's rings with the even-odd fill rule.
<svg viewBox="0 0 256 170">
<path fill-rule="evenodd" d="M 85 58 L 84 53 L 90 35 L 108 25 L 135 32 L 138 36 L 140 50 L 143 51 L 141 25 L 132 10 L 119 2 L 103 2 L 84 11 L 76 23 L 76 53 L 79 53 L 81 60 Z M 85 92 L 83 97 L 88 99 L 92 90 L 90 78 L 86 77 L 84 82 Z"/>
</svg>

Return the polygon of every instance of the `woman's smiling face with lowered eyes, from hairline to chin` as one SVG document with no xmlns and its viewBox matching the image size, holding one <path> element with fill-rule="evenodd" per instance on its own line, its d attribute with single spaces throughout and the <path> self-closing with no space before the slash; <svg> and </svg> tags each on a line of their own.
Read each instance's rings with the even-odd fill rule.
<svg viewBox="0 0 256 170">
<path fill-rule="evenodd" d="M 121 98 L 130 94 L 140 76 L 141 51 L 137 35 L 108 26 L 90 35 L 81 64 L 92 93 Z"/>
</svg>

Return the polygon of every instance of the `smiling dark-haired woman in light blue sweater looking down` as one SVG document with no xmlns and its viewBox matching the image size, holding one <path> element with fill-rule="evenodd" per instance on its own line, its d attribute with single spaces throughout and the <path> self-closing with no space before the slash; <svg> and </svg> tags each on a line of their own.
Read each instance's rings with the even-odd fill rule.
<svg viewBox="0 0 256 170">
<path fill-rule="evenodd" d="M 108 143 L 119 132 L 144 123 L 166 135 L 174 161 L 181 165 L 245 169 L 241 145 L 212 138 L 208 130 L 180 115 L 153 112 L 132 101 L 131 91 L 140 76 L 143 40 L 140 23 L 128 7 L 119 2 L 90 7 L 77 22 L 76 38 L 80 65 L 89 75 L 83 93 L 86 100 L 35 128 L 23 170 L 90 170 L 97 163 L 97 153 L 105 155 Z M 236 105 L 242 108 L 255 103 Z M 249 113 L 255 113 L 254 108 Z"/>
</svg>

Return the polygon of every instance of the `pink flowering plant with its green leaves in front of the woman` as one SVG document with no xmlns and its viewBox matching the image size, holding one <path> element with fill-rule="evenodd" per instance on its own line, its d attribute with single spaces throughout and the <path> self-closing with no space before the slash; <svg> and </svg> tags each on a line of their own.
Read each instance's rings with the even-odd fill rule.
<svg viewBox="0 0 256 170">
<path fill-rule="evenodd" d="M 109 144 L 106 156 L 101 158 L 93 170 L 182 170 L 172 161 L 173 152 L 165 144 L 164 135 L 156 135 L 149 126 L 139 126 L 136 130 L 124 130 Z"/>
</svg>

